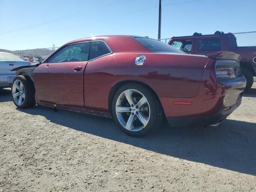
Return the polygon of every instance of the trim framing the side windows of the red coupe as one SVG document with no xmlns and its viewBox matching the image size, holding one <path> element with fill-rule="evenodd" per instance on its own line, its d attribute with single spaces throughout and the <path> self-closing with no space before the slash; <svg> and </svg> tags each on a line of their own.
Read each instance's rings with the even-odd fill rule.
<svg viewBox="0 0 256 192">
<path fill-rule="evenodd" d="M 70 62 L 64 62 L 64 63 L 71 63 L 71 62 L 89 62 L 89 61 L 92 61 L 94 59 L 98 59 L 100 57 L 103 57 L 103 56 L 106 56 L 106 55 L 110 55 L 112 54 L 112 50 L 110 49 L 110 47 L 108 46 L 108 44 L 104 41 L 104 40 L 90 40 L 90 41 L 82 41 L 82 42 L 75 42 L 75 43 L 70 43 L 70 44 L 67 44 L 65 46 L 63 46 L 60 50 L 62 50 L 63 48 L 67 47 L 67 46 L 70 46 L 70 45 L 74 45 L 74 44 L 80 44 L 80 43 L 87 43 L 87 42 L 104 42 L 104 44 L 107 46 L 107 48 L 110 50 L 110 53 L 107 53 L 107 54 L 104 54 L 102 56 L 99 56 L 99 57 L 96 57 L 96 58 L 93 58 L 93 59 L 90 59 L 90 60 L 87 60 L 87 61 L 70 61 Z M 91 51 L 91 47 L 92 47 L 92 44 L 90 46 L 90 49 L 89 49 L 89 54 L 90 54 L 90 51 Z M 44 60 L 43 63 L 48 63 L 48 60 L 50 58 L 52 58 L 52 56 L 54 56 L 56 53 L 58 53 L 60 50 L 57 50 L 56 52 L 53 52 L 54 54 L 53 55 L 50 55 L 46 60 Z M 88 54 L 88 58 L 89 58 L 89 54 Z M 51 63 L 58 63 L 58 62 L 51 62 Z M 49 63 L 49 64 L 51 64 Z"/>
</svg>

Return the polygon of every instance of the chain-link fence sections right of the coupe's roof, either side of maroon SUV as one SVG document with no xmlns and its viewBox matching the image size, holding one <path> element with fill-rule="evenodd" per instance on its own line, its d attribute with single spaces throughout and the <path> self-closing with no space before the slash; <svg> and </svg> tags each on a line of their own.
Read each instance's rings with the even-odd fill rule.
<svg viewBox="0 0 256 192">
<path fill-rule="evenodd" d="M 256 46 L 256 31 L 232 33 L 236 37 L 238 47 L 251 47 Z M 164 43 L 168 43 L 170 38 L 158 39 Z"/>
</svg>

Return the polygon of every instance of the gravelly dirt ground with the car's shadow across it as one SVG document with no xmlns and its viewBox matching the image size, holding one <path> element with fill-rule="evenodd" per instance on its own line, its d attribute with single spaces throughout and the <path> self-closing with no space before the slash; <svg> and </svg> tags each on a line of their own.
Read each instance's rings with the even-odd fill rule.
<svg viewBox="0 0 256 192">
<path fill-rule="evenodd" d="M 256 82 L 220 126 L 144 138 L 108 118 L 20 110 L 2 89 L 0 192 L 16 191 L 256 192 Z"/>
</svg>

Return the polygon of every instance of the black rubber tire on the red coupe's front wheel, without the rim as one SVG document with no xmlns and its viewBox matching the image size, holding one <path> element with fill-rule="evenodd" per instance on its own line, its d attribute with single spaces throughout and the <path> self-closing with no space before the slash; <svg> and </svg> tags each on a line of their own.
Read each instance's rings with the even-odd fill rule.
<svg viewBox="0 0 256 192">
<path fill-rule="evenodd" d="M 23 76 L 23 75 L 16 76 L 13 82 L 15 82 L 16 80 L 20 80 L 22 82 L 25 90 L 25 98 L 24 98 L 24 102 L 21 105 L 19 105 L 14 101 L 14 97 L 12 95 L 12 100 L 14 104 L 21 109 L 33 107 L 36 104 L 34 83 L 28 76 Z M 12 90 L 13 90 L 13 84 L 12 84 Z"/>
</svg>

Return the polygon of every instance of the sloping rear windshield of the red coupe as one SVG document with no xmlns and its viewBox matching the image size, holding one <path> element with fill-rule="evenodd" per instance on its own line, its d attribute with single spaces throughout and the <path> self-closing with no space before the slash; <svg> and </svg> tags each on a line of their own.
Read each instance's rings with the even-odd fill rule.
<svg viewBox="0 0 256 192">
<path fill-rule="evenodd" d="M 150 38 L 137 37 L 135 38 L 140 44 L 144 45 L 146 48 L 153 52 L 172 52 L 172 53 L 182 53 L 183 51 L 176 49 L 162 41 L 158 41 Z"/>
</svg>

